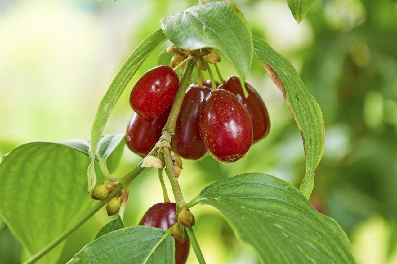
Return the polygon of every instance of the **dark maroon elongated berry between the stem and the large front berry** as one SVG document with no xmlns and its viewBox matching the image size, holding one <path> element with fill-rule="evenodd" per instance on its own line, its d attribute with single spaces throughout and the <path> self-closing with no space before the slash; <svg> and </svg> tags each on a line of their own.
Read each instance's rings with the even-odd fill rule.
<svg viewBox="0 0 397 264">
<path fill-rule="evenodd" d="M 190 85 L 185 93 L 171 140 L 172 150 L 185 159 L 201 159 L 207 153 L 198 128 L 198 112 L 201 102 L 211 90 L 208 87 Z"/>
</svg>

